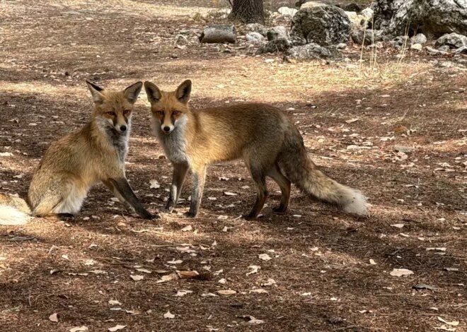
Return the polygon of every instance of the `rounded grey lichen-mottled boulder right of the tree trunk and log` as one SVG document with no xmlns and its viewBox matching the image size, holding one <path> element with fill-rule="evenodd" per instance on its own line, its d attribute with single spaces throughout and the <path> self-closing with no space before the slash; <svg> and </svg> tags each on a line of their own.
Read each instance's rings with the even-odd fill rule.
<svg viewBox="0 0 467 332">
<path fill-rule="evenodd" d="M 350 20 L 341 8 L 317 6 L 300 9 L 292 19 L 292 41 L 296 45 L 316 42 L 335 45 L 350 37 Z"/>
</svg>

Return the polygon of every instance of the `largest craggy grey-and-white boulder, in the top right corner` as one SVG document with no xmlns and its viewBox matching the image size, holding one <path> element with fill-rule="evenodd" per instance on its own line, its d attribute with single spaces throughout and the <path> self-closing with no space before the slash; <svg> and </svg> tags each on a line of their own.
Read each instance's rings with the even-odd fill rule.
<svg viewBox="0 0 467 332">
<path fill-rule="evenodd" d="M 391 35 L 467 35 L 467 0 L 377 0 L 374 26 Z"/>
</svg>

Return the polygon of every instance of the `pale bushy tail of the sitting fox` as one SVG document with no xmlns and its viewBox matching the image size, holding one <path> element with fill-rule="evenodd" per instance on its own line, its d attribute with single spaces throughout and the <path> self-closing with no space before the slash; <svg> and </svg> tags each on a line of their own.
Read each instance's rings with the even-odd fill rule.
<svg viewBox="0 0 467 332">
<path fill-rule="evenodd" d="M 22 198 L 0 194 L 0 225 L 24 225 L 30 218 L 29 206 Z"/>
</svg>

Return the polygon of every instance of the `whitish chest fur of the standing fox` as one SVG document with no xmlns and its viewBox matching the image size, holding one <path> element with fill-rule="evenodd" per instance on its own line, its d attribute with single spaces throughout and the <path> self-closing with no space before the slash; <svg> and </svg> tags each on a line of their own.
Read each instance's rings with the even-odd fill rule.
<svg viewBox="0 0 467 332">
<path fill-rule="evenodd" d="M 173 129 L 171 134 L 164 134 L 161 129 L 161 123 L 154 119 L 152 122 L 153 129 L 168 160 L 176 164 L 189 163 L 188 155 L 185 152 L 185 125 L 186 119 L 179 119 L 175 122 L 175 129 Z"/>
</svg>

